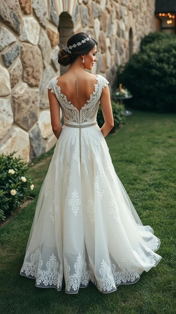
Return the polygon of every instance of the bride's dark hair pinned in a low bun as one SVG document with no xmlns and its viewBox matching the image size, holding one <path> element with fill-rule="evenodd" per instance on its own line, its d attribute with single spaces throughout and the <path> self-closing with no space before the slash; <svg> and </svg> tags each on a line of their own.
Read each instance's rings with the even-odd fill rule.
<svg viewBox="0 0 176 314">
<path fill-rule="evenodd" d="M 81 42 L 83 39 L 87 38 L 88 35 L 86 33 L 77 33 L 71 36 L 67 41 L 67 47 L 73 46 L 73 44 L 77 44 Z M 95 45 L 98 45 L 95 39 L 91 38 L 89 41 L 81 44 L 80 46 L 73 47 L 70 51 L 71 53 L 65 51 L 64 49 L 60 49 L 57 54 L 58 63 L 60 65 L 66 67 L 67 65 L 73 63 L 78 56 L 86 55 L 89 53 Z"/>
</svg>

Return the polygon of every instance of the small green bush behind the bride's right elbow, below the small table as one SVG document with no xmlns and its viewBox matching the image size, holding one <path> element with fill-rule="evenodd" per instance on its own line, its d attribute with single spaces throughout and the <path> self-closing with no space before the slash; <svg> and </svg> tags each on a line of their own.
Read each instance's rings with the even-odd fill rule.
<svg viewBox="0 0 176 314">
<path fill-rule="evenodd" d="M 123 115 L 125 108 L 123 105 L 120 105 L 119 103 L 116 103 L 114 101 L 111 101 L 111 105 L 112 105 L 112 112 L 113 112 L 113 117 L 114 117 L 114 127 L 111 129 L 110 133 L 114 133 L 115 130 L 122 123 L 125 122 L 125 116 Z M 101 106 L 99 106 L 98 108 L 97 123 L 99 127 L 102 127 L 102 125 L 105 123 Z"/>
</svg>

